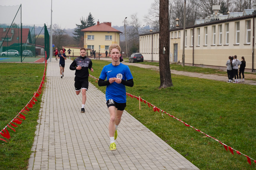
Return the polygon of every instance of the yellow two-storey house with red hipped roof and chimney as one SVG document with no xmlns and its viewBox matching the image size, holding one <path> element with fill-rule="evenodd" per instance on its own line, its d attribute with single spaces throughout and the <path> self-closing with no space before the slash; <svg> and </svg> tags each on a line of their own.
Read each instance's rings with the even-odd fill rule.
<svg viewBox="0 0 256 170">
<path fill-rule="evenodd" d="M 96 57 L 109 52 L 111 44 L 120 44 L 120 31 L 111 27 L 111 22 L 97 22 L 97 25 L 81 30 L 84 32 L 84 48 L 96 50 Z M 90 54 L 90 51 L 88 51 Z"/>
</svg>

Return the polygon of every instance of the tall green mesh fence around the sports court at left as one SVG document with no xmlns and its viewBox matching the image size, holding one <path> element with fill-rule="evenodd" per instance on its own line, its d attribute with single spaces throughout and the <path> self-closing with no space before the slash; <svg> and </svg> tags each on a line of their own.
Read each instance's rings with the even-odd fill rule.
<svg viewBox="0 0 256 170">
<path fill-rule="evenodd" d="M 0 62 L 34 62 L 49 53 L 46 25 L 23 24 L 21 19 L 21 5 L 0 6 Z"/>
</svg>

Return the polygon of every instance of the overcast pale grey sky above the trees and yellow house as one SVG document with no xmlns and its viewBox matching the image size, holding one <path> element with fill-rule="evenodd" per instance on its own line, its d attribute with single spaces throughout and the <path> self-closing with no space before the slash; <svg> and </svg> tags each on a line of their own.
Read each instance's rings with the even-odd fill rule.
<svg viewBox="0 0 256 170">
<path fill-rule="evenodd" d="M 122 26 L 125 17 L 138 13 L 141 24 L 154 0 L 52 0 L 53 24 L 61 28 L 75 28 L 80 24 L 81 17 L 87 17 L 89 12 L 95 22 L 112 22 L 112 26 Z M 51 0 L 1 0 L 0 5 L 22 7 L 23 25 L 42 25 L 51 23 Z"/>
</svg>

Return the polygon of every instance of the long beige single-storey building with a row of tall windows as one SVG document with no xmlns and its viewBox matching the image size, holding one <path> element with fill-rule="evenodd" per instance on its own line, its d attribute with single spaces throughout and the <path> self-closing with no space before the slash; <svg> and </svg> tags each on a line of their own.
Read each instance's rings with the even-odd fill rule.
<svg viewBox="0 0 256 170">
<path fill-rule="evenodd" d="M 185 64 L 201 67 L 226 68 L 228 56 L 244 56 L 246 71 L 255 71 L 254 32 L 256 14 L 253 9 L 228 15 L 211 15 L 196 20 L 185 29 Z M 170 62 L 182 61 L 183 28 L 169 30 Z M 141 34 L 140 53 L 144 60 L 159 61 L 159 32 Z"/>
</svg>

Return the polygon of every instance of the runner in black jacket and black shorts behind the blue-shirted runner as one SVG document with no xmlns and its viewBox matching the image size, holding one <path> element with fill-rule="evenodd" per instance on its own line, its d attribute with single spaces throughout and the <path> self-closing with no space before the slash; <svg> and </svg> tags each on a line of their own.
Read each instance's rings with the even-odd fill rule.
<svg viewBox="0 0 256 170">
<path fill-rule="evenodd" d="M 75 72 L 75 90 L 76 94 L 79 95 L 82 89 L 82 108 L 81 113 L 85 113 L 85 102 L 86 102 L 86 90 L 88 90 L 89 82 L 88 76 L 90 69 L 93 72 L 92 61 L 89 58 L 86 58 L 86 49 L 80 49 L 80 57 L 74 59 L 71 63 L 69 69 L 76 70 Z"/>
</svg>

